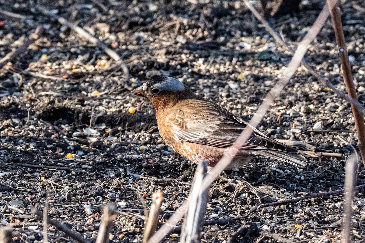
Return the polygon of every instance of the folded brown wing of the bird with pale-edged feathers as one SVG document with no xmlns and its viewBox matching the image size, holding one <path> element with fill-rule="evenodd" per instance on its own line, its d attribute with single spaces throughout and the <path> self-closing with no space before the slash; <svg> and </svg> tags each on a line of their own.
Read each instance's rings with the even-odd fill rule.
<svg viewBox="0 0 365 243">
<path fill-rule="evenodd" d="M 209 101 L 191 99 L 183 101 L 179 107 L 182 108 L 166 117 L 168 122 L 173 124 L 172 133 L 177 141 L 230 148 L 248 125 L 241 118 Z M 288 153 L 297 151 L 267 137 L 255 128 L 253 130 L 242 149 L 280 150 Z"/>
</svg>

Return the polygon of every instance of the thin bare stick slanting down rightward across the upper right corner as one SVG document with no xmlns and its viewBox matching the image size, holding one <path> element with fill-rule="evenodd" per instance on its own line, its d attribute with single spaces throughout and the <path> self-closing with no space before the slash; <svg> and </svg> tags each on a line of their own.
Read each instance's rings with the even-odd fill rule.
<svg viewBox="0 0 365 243">
<path fill-rule="evenodd" d="M 247 7 L 251 10 L 251 12 L 255 15 L 255 17 L 262 23 L 264 24 L 266 30 L 270 33 L 270 35 L 273 36 L 273 38 L 275 39 L 275 41 L 280 44 L 281 46 L 283 46 L 287 51 L 289 51 L 291 54 L 294 54 L 294 50 L 292 48 L 290 48 L 288 46 L 287 43 L 284 42 L 284 40 L 282 40 L 280 38 L 280 36 L 269 26 L 268 22 L 260 15 L 260 13 L 252 6 L 252 4 L 248 1 L 248 0 L 243 0 L 245 1 Z M 333 3 L 334 4 L 334 3 Z M 313 74 L 314 77 L 316 77 L 316 79 L 318 79 L 318 81 L 320 81 L 324 86 L 329 87 L 331 90 L 333 90 L 337 95 L 339 95 L 340 97 L 342 97 L 343 99 L 345 99 L 346 101 L 356 105 L 361 111 L 365 110 L 365 107 L 357 100 L 357 99 L 353 99 L 349 96 L 347 96 L 343 91 L 338 90 L 336 87 L 334 87 L 332 85 L 331 82 L 327 81 L 326 79 L 324 79 L 322 77 L 322 75 L 320 75 L 317 71 L 314 70 L 314 68 L 312 68 L 308 63 L 306 63 L 306 61 L 301 60 L 301 64 L 311 73 Z"/>
</svg>

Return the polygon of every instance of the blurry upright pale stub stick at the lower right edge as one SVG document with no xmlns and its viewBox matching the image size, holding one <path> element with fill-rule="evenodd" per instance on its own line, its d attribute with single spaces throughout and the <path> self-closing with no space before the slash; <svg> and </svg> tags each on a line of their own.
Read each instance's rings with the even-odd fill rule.
<svg viewBox="0 0 365 243">
<path fill-rule="evenodd" d="M 343 208 L 345 216 L 342 225 L 342 243 L 352 242 L 351 237 L 351 216 L 352 216 L 352 201 L 354 194 L 354 185 L 356 184 L 356 170 L 357 161 L 356 155 L 352 154 L 346 162 L 345 168 L 345 200 L 343 202 Z"/>
</svg>

